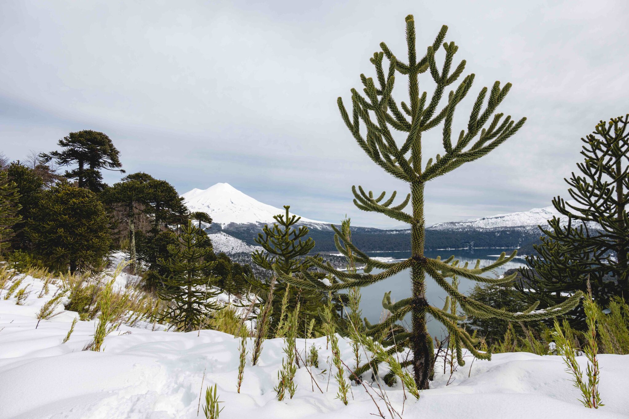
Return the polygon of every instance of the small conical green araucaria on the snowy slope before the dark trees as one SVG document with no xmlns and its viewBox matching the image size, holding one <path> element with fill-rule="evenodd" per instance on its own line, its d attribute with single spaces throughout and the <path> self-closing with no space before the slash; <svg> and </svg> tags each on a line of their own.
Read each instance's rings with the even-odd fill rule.
<svg viewBox="0 0 629 419">
<path fill-rule="evenodd" d="M 170 258 L 159 260 L 168 272 L 159 276 L 162 282 L 157 287 L 159 297 L 170 303 L 164 320 L 183 332 L 198 329 L 204 317 L 220 308 L 210 300 L 220 291 L 212 288 L 217 278 L 204 274 L 216 262 L 206 260 L 212 249 L 201 246 L 203 237 L 189 221 L 177 236 L 178 243 L 168 246 Z"/>
</svg>

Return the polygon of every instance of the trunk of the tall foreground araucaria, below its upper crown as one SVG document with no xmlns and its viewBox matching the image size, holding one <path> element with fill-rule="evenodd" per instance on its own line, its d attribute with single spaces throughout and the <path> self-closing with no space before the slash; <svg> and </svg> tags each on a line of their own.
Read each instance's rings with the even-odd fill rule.
<svg viewBox="0 0 629 419">
<path fill-rule="evenodd" d="M 413 312 L 411 313 L 411 348 L 413 349 L 413 373 L 418 389 L 428 389 L 430 370 L 432 367 L 432 338 L 426 328 L 426 273 L 424 271 L 424 216 L 423 216 L 424 184 L 411 183 L 411 201 L 413 218 L 416 224 L 411 226 L 411 281 L 413 284 Z"/>
</svg>

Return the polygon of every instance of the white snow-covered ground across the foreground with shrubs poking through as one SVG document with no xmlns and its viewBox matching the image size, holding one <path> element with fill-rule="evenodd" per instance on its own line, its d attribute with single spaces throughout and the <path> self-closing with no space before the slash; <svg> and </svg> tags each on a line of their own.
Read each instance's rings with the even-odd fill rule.
<svg viewBox="0 0 629 419">
<path fill-rule="evenodd" d="M 122 278 L 121 278 L 122 281 Z M 362 386 L 352 387 L 347 406 L 335 399 L 337 385 L 323 374 L 330 351 L 325 337 L 298 340 L 298 347 L 320 348 L 313 374 L 321 393 L 302 367 L 294 398 L 277 401 L 273 391 L 282 362 L 282 340 L 264 344 L 258 366 L 248 356 L 240 394 L 236 391 L 240 339 L 214 330 L 190 333 L 152 331 L 151 325 L 126 327 L 109 335 L 103 352 L 82 351 L 92 339 L 94 321 L 79 321 L 70 340 L 62 340 L 77 313 L 63 311 L 42 320 L 36 312 L 56 291 L 38 298 L 42 281 L 26 277 L 31 294 L 24 305 L 0 295 L 0 418 L 179 419 L 197 415 L 199 392 L 218 385 L 225 410 L 220 418 L 370 418 L 376 406 Z M 342 356 L 352 365 L 350 347 Z M 250 349 L 250 342 L 248 344 Z M 437 366 L 431 389 L 403 404 L 400 384 L 386 388 L 403 418 L 626 418 L 629 412 L 629 356 L 601 355 L 600 390 L 605 406 L 584 408 L 559 356 L 494 354 L 493 361 L 471 358 L 450 378 Z M 584 357 L 579 357 L 585 369 Z M 471 373 L 470 373 L 471 366 Z M 440 369 L 441 368 L 441 369 Z M 382 368 L 382 373 L 386 369 Z M 469 375 L 469 377 L 468 377 Z M 450 384 L 446 385 L 450 379 Z M 453 381 L 454 379 L 454 381 Z M 377 397 L 377 387 L 369 388 Z M 407 393 L 408 394 L 408 393 Z M 201 402 L 203 405 L 203 401 Z M 203 407 L 203 406 L 201 406 Z M 403 413 L 402 413 L 403 412 Z"/>
</svg>

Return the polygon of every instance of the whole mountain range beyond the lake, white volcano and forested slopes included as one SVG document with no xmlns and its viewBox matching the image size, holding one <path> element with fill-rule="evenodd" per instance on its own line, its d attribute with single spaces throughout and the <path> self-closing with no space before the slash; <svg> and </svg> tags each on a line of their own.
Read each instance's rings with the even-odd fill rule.
<svg viewBox="0 0 629 419">
<path fill-rule="evenodd" d="M 257 246 L 254 239 L 264 224 L 273 224 L 276 222 L 273 216 L 285 212 L 253 199 L 228 183 L 194 188 L 181 196 L 191 211 L 207 212 L 212 217 L 212 227 L 206 231 L 216 241 L 217 250 L 225 253 L 252 251 Z M 437 223 L 426 228 L 426 249 L 520 248 L 538 241 L 537 226 L 545 225 L 553 216 L 560 214 L 551 206 Z M 315 251 L 336 251 L 331 223 L 302 217 L 298 224 L 310 229 L 309 237 L 316 241 Z M 353 226 L 352 241 L 362 251 L 408 251 L 409 232 L 409 229 Z"/>
</svg>

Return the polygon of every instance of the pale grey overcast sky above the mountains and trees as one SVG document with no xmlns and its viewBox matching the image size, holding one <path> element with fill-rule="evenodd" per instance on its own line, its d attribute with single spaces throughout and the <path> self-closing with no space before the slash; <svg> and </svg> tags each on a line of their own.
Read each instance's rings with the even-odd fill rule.
<svg viewBox="0 0 629 419">
<path fill-rule="evenodd" d="M 353 207 L 352 185 L 408 187 L 360 150 L 336 99 L 350 103 L 360 73 L 374 75 L 369 57 L 381 41 L 406 61 L 409 13 L 420 53 L 447 24 L 455 62 L 476 73 L 455 133 L 495 80 L 513 83 L 499 111 L 528 117 L 498 150 L 427 185 L 428 224 L 550 205 L 565 195 L 580 138 L 629 112 L 623 0 L 6 0 L 0 151 L 24 159 L 94 129 L 113 139 L 128 173 L 146 171 L 180 193 L 228 182 L 310 219 L 347 213 L 354 225 L 403 227 Z M 420 83 L 431 94 L 428 73 Z M 404 99 L 401 78 L 395 92 Z M 432 155 L 441 131 L 424 137 Z"/>
</svg>

